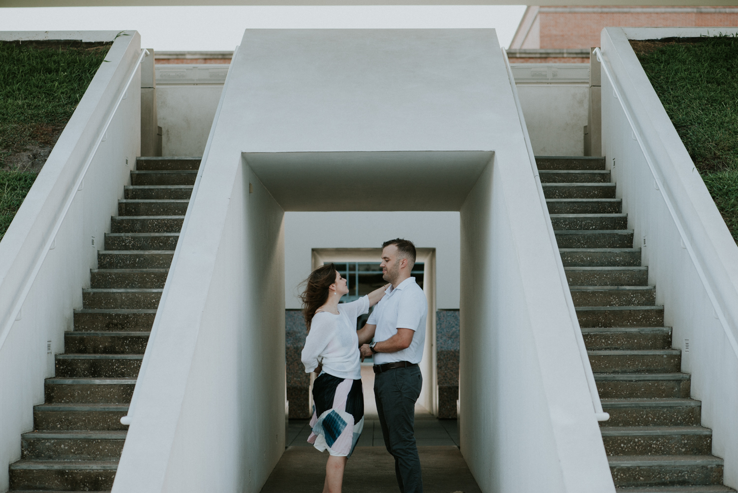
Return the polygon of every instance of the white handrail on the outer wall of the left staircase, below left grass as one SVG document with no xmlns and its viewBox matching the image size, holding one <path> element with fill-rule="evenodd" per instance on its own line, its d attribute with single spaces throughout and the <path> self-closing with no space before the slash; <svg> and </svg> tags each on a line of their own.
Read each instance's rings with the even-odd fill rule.
<svg viewBox="0 0 738 493">
<path fill-rule="evenodd" d="M 80 191 L 83 188 L 83 180 L 85 179 L 87 170 L 92 164 L 92 160 L 94 159 L 95 154 L 97 154 L 97 149 L 100 147 L 100 143 L 102 143 L 103 140 L 106 139 L 106 132 L 108 132 L 108 126 L 110 126 L 110 123 L 112 122 L 115 116 L 115 113 L 118 111 L 118 107 L 120 106 L 121 101 L 123 101 L 125 98 L 128 98 L 128 87 L 131 86 L 131 82 L 133 82 L 134 80 L 134 76 L 136 75 L 136 71 L 138 70 L 139 64 L 141 64 L 141 61 L 143 60 L 143 58 L 148 55 L 149 55 L 148 50 L 145 50 L 145 49 L 141 50 L 141 55 L 139 55 L 138 61 L 136 62 L 136 64 L 134 64 L 134 69 L 131 71 L 131 75 L 128 77 L 128 81 L 125 83 L 125 86 L 123 86 L 123 89 L 120 91 L 117 101 L 115 102 L 115 106 L 113 107 L 112 111 L 108 115 L 106 122 L 100 128 L 100 131 L 97 132 L 97 138 L 94 141 L 94 146 L 92 147 L 92 150 L 87 154 L 87 160 L 85 161 L 82 167 L 82 171 L 80 172 L 79 176 L 77 177 L 77 180 L 75 181 L 75 185 L 72 187 L 72 191 L 69 193 L 69 196 L 66 198 L 66 203 L 64 203 L 64 206 L 61 209 L 61 214 L 59 215 L 56 222 L 54 223 L 54 227 L 51 230 L 51 234 L 49 234 L 49 239 L 46 240 L 46 244 L 44 245 L 44 250 L 41 251 L 41 254 L 38 256 L 38 259 L 36 259 L 36 263 L 33 266 L 33 270 L 31 271 L 30 276 L 28 276 L 28 279 L 26 281 L 26 284 L 24 285 L 23 290 L 21 290 L 21 296 L 18 297 L 18 302 L 15 303 L 13 310 L 10 311 L 10 316 L 8 316 L 7 322 L 5 322 L 5 326 L 3 327 L 2 333 L 0 333 L 0 349 L 3 347 L 3 344 L 5 344 L 5 340 L 7 339 L 7 336 L 10 334 L 10 330 L 13 328 L 13 324 L 15 324 L 15 322 L 21 319 L 21 315 L 22 315 L 21 309 L 23 308 L 23 304 L 26 302 L 28 293 L 30 293 L 33 283 L 36 280 L 36 276 L 38 276 L 39 271 L 41 271 L 41 266 L 44 265 L 44 260 L 46 260 L 46 255 L 49 254 L 49 250 L 53 250 L 55 248 L 56 235 L 58 234 L 59 229 L 61 228 L 62 222 L 64 222 L 64 220 L 66 219 L 66 213 L 69 212 L 69 208 L 72 207 L 72 203 L 74 202 L 75 197 L 77 196 L 77 191 Z"/>
</svg>

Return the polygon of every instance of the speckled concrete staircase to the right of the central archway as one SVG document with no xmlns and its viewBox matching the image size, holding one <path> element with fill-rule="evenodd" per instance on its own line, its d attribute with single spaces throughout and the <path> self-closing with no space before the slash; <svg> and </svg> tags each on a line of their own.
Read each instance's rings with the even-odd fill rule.
<svg viewBox="0 0 738 493">
<path fill-rule="evenodd" d="M 604 157 L 537 157 L 543 191 L 610 420 L 602 440 L 618 492 L 717 493 L 723 460 L 689 398 L 681 351 L 633 247 Z"/>
</svg>

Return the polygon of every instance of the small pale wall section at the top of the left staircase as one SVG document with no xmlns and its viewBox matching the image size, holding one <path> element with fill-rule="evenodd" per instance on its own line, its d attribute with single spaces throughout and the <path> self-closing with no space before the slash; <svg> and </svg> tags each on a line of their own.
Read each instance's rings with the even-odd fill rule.
<svg viewBox="0 0 738 493">
<path fill-rule="evenodd" d="M 222 90 L 222 84 L 156 84 L 162 155 L 202 155 Z"/>
</svg>

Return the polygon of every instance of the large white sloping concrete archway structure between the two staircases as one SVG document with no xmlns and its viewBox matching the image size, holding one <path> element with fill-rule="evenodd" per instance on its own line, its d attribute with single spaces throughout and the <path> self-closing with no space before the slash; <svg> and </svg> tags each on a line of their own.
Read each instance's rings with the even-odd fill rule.
<svg viewBox="0 0 738 493">
<path fill-rule="evenodd" d="M 276 430 L 284 360 L 275 355 L 284 347 L 284 272 L 249 262 L 281 258 L 283 217 L 282 204 L 264 197 L 265 224 L 249 226 L 243 167 L 253 170 L 254 194 L 263 188 L 253 180 L 268 178 L 290 210 L 356 210 L 351 197 L 382 210 L 391 203 L 369 200 L 382 197 L 381 182 L 350 180 L 387 163 L 401 163 L 388 179 L 397 194 L 413 196 L 415 211 L 438 209 L 429 191 L 449 181 L 449 167 L 464 177 L 444 200 L 464 204 L 462 452 L 483 491 L 613 491 L 568 289 L 494 30 L 246 30 L 228 77 L 134 393 L 114 492 L 261 489 L 283 451 Z M 402 174 L 443 160 L 448 166 L 428 166 L 422 180 Z M 276 180 L 286 170 L 289 179 Z M 331 204 L 308 180 L 352 183 L 354 195 L 329 195 L 337 199 Z M 223 258 L 231 268 L 220 267 Z M 246 319 L 251 313 L 258 319 Z M 224 375 L 238 375 L 241 364 L 253 370 L 249 353 L 234 361 L 236 333 L 265 353 L 257 361 L 263 372 L 241 381 Z M 206 356 L 215 370 L 204 370 Z M 207 384 L 234 395 L 214 402 Z M 235 436 L 226 439 L 227 425 Z M 531 460 L 539 449 L 547 457 Z"/>
</svg>

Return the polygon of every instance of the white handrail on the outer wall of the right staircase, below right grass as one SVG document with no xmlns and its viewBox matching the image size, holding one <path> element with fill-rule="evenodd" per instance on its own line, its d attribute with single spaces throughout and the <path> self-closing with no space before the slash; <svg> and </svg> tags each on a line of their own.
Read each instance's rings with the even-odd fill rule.
<svg viewBox="0 0 738 493">
<path fill-rule="evenodd" d="M 628 109 L 627 106 L 625 106 L 625 103 L 622 98 L 622 93 L 618 87 L 618 84 L 615 83 L 615 78 L 613 77 L 613 74 L 610 72 L 610 69 L 607 67 L 607 62 L 605 62 L 604 55 L 602 55 L 601 50 L 599 48 L 595 48 L 594 52 L 597 57 L 597 61 L 599 61 L 602 66 L 602 70 L 604 71 L 605 75 L 607 75 L 607 79 L 610 81 L 610 84 L 613 86 L 613 95 L 620 102 L 620 106 L 623 109 L 623 112 L 625 113 L 625 118 L 627 118 L 628 123 L 630 123 L 630 129 L 633 132 L 633 136 L 635 137 L 635 140 L 638 141 L 638 146 L 641 147 L 641 152 L 643 152 L 644 157 L 646 158 L 646 164 L 648 165 L 649 171 L 651 171 L 656 188 L 658 188 L 658 191 L 661 193 L 661 198 L 663 198 L 664 203 L 666 203 L 666 208 L 669 210 L 669 215 L 671 215 L 672 220 L 674 221 L 677 227 L 677 232 L 679 233 L 679 237 L 682 240 L 683 248 L 686 249 L 687 253 L 689 254 L 689 258 L 692 260 L 692 265 L 694 265 L 694 268 L 697 271 L 697 275 L 700 276 L 700 281 L 702 282 L 703 287 L 705 288 L 707 292 L 707 297 L 712 304 L 712 309 L 714 310 L 715 318 L 717 318 L 720 321 L 720 325 L 723 327 L 725 336 L 728 337 L 728 341 L 730 341 L 731 347 L 733 348 L 733 352 L 738 358 L 738 342 L 736 341 L 733 333 L 731 333 L 728 320 L 725 318 L 725 313 L 723 313 L 723 308 L 720 306 L 720 302 L 717 301 L 717 297 L 715 296 L 714 290 L 711 288 L 711 285 L 708 282 L 707 275 L 702 267 L 702 262 L 700 262 L 700 260 L 697 258 L 697 254 L 694 252 L 694 248 L 692 247 L 692 242 L 690 242 L 689 237 L 687 237 L 687 234 L 682 225 L 682 222 L 677 216 L 674 205 L 672 205 L 672 200 L 669 198 L 669 195 L 666 194 L 666 188 L 663 186 L 663 183 L 661 182 L 661 178 L 659 178 L 658 173 L 656 172 L 656 167 L 653 163 L 651 153 L 646 150 L 646 147 L 644 146 L 644 139 L 641 135 L 641 132 L 638 130 L 638 126 L 635 125 L 635 118 L 633 118 L 633 116 L 631 115 L 630 109 Z"/>
</svg>

